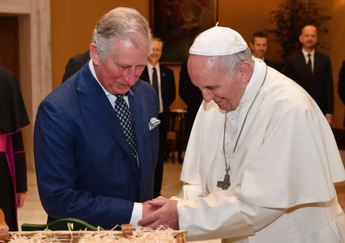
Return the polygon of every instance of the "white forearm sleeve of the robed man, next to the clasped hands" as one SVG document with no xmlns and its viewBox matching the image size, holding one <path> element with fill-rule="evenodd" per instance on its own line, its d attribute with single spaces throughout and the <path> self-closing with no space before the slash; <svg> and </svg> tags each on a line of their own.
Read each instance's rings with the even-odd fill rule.
<svg viewBox="0 0 345 243">
<path fill-rule="evenodd" d="M 179 200 L 177 211 L 179 228 L 187 232 L 188 241 L 254 235 L 232 191 L 217 191 L 206 197 Z"/>
</svg>

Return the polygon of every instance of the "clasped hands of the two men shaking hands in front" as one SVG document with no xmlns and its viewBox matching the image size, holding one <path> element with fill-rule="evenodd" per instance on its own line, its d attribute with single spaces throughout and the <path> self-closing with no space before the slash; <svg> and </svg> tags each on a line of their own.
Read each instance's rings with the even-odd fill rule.
<svg viewBox="0 0 345 243">
<path fill-rule="evenodd" d="M 168 200 L 159 196 L 151 201 L 143 203 L 143 218 L 138 225 L 154 230 L 160 225 L 167 225 L 173 230 L 178 230 L 177 201 Z"/>
</svg>

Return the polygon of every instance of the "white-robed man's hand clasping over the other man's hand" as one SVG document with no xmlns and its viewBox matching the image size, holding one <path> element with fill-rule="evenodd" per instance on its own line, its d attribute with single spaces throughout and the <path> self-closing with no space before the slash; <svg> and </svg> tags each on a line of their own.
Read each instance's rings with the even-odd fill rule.
<svg viewBox="0 0 345 243">
<path fill-rule="evenodd" d="M 158 198 L 152 201 L 156 204 L 164 205 L 159 208 L 159 210 L 150 214 L 147 217 L 143 217 L 139 220 L 138 225 L 142 227 L 150 227 L 152 229 L 157 229 L 160 225 L 167 225 L 173 230 L 178 230 L 178 212 L 177 212 L 177 201 L 176 200 L 159 200 Z M 151 204 L 151 202 L 150 202 Z M 144 214 L 143 214 L 144 215 Z"/>
</svg>

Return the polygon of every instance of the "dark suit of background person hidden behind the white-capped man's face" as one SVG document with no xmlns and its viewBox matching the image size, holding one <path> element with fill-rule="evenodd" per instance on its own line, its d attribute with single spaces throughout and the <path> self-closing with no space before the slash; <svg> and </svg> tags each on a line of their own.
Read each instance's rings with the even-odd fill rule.
<svg viewBox="0 0 345 243">
<path fill-rule="evenodd" d="M 186 142 L 188 142 L 190 132 L 192 130 L 196 114 L 198 113 L 199 107 L 203 101 L 203 97 L 199 88 L 190 80 L 187 70 L 187 61 L 183 62 L 181 66 L 178 94 L 187 105 L 185 137 Z"/>
</svg>

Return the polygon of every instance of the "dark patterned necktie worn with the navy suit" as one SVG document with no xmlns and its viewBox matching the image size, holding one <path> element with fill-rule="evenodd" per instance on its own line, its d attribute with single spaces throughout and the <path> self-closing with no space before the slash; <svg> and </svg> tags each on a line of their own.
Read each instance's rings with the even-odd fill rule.
<svg viewBox="0 0 345 243">
<path fill-rule="evenodd" d="M 138 165 L 134 129 L 132 124 L 132 115 L 122 95 L 116 95 L 115 113 L 116 117 L 118 118 L 118 121 L 120 122 L 123 133 L 127 138 L 127 142 L 129 144 L 130 150 L 132 151 L 132 155 L 135 159 L 135 162 Z"/>
</svg>

